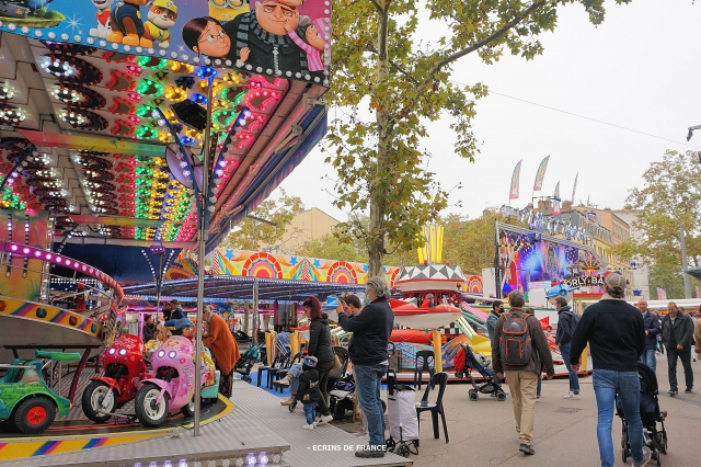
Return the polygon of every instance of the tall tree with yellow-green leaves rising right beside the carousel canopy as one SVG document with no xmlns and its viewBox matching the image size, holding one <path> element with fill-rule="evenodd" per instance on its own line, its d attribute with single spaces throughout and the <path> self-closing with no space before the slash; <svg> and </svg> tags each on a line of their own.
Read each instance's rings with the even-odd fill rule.
<svg viewBox="0 0 701 467">
<path fill-rule="evenodd" d="M 331 124 L 326 162 L 338 173 L 336 206 L 369 212 L 367 229 L 347 223 L 344 235 L 367 244 L 371 275 L 388 253 L 423 244 L 422 226 L 447 206 L 448 193 L 425 168 L 426 123 L 450 117 L 457 155 L 473 160 L 479 152 L 471 121 L 474 100 L 487 91 L 451 82 L 451 66 L 470 54 L 493 64 L 505 49 L 532 59 L 543 50 L 538 35 L 554 30 L 558 5 L 574 1 L 601 23 L 604 0 L 336 3 L 327 98 L 342 115 Z"/>
</svg>

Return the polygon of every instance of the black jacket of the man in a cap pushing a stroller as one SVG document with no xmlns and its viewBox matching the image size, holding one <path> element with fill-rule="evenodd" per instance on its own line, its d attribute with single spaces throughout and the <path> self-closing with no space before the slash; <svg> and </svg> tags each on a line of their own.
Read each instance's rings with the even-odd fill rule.
<svg viewBox="0 0 701 467">
<path fill-rule="evenodd" d="M 637 372 L 637 360 L 645 350 L 643 316 L 622 299 L 602 298 L 582 315 L 572 338 L 571 364 L 579 364 L 587 341 L 594 369 Z"/>
</svg>

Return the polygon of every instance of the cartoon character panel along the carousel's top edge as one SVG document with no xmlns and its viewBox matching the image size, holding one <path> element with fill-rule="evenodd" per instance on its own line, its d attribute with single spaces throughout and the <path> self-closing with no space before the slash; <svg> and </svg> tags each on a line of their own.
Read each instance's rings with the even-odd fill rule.
<svg viewBox="0 0 701 467">
<path fill-rule="evenodd" d="M 329 86 L 330 0 L 0 0 L 0 31 Z"/>
</svg>

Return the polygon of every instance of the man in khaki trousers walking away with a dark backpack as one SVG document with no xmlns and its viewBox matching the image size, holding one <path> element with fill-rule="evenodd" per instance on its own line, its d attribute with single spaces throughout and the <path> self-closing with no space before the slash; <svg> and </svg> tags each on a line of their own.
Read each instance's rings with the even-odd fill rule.
<svg viewBox="0 0 701 467">
<path fill-rule="evenodd" d="M 532 455 L 536 454 L 531 444 L 538 375 L 544 366 L 547 378 L 551 378 L 555 369 L 540 321 L 524 311 L 524 293 L 512 291 L 508 304 L 510 310 L 502 314 L 494 329 L 492 366 L 499 378 L 506 375 L 508 381 L 520 444 L 518 451 Z"/>
</svg>

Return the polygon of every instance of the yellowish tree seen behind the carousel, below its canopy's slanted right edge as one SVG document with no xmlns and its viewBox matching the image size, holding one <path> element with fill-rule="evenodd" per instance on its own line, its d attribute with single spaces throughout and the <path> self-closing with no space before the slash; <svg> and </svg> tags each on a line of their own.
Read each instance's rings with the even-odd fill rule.
<svg viewBox="0 0 701 467">
<path fill-rule="evenodd" d="M 258 251 L 264 246 L 274 246 L 285 236 L 287 227 L 302 207 L 299 196 L 288 196 L 280 189 L 278 200 L 265 200 L 250 216 L 243 218 L 239 228 L 223 239 L 220 248 Z M 299 232 L 291 231 L 289 237 Z"/>
</svg>

